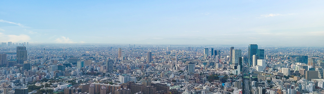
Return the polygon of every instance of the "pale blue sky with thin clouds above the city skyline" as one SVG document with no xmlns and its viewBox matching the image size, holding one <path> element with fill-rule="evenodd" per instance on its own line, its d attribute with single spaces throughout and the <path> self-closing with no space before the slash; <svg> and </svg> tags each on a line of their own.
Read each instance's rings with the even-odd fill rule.
<svg viewBox="0 0 324 94">
<path fill-rule="evenodd" d="M 0 4 L 0 42 L 324 46 L 323 0 Z"/>
</svg>

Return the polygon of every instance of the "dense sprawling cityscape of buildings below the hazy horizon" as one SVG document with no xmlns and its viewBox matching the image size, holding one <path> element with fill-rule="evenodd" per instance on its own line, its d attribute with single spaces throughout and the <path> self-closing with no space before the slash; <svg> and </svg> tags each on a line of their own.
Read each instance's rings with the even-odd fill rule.
<svg viewBox="0 0 324 94">
<path fill-rule="evenodd" d="M 324 48 L 27 43 L 0 45 L 3 94 L 324 93 Z"/>
</svg>

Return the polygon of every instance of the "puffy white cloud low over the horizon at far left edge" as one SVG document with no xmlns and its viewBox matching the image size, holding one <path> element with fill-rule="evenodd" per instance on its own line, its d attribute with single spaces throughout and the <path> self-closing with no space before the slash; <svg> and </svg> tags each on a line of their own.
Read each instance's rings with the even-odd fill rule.
<svg viewBox="0 0 324 94">
<path fill-rule="evenodd" d="M 21 35 L 6 35 L 4 33 L 0 33 L 0 40 L 1 42 L 23 42 L 23 41 L 29 41 L 30 37 L 25 34 Z"/>
</svg>

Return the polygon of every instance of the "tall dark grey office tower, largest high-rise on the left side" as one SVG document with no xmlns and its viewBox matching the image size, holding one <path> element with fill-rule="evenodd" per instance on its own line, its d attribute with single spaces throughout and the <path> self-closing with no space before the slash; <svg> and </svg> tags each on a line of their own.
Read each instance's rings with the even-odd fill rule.
<svg viewBox="0 0 324 94">
<path fill-rule="evenodd" d="M 23 64 L 27 60 L 27 50 L 25 46 L 17 46 L 17 64 Z"/>
</svg>

